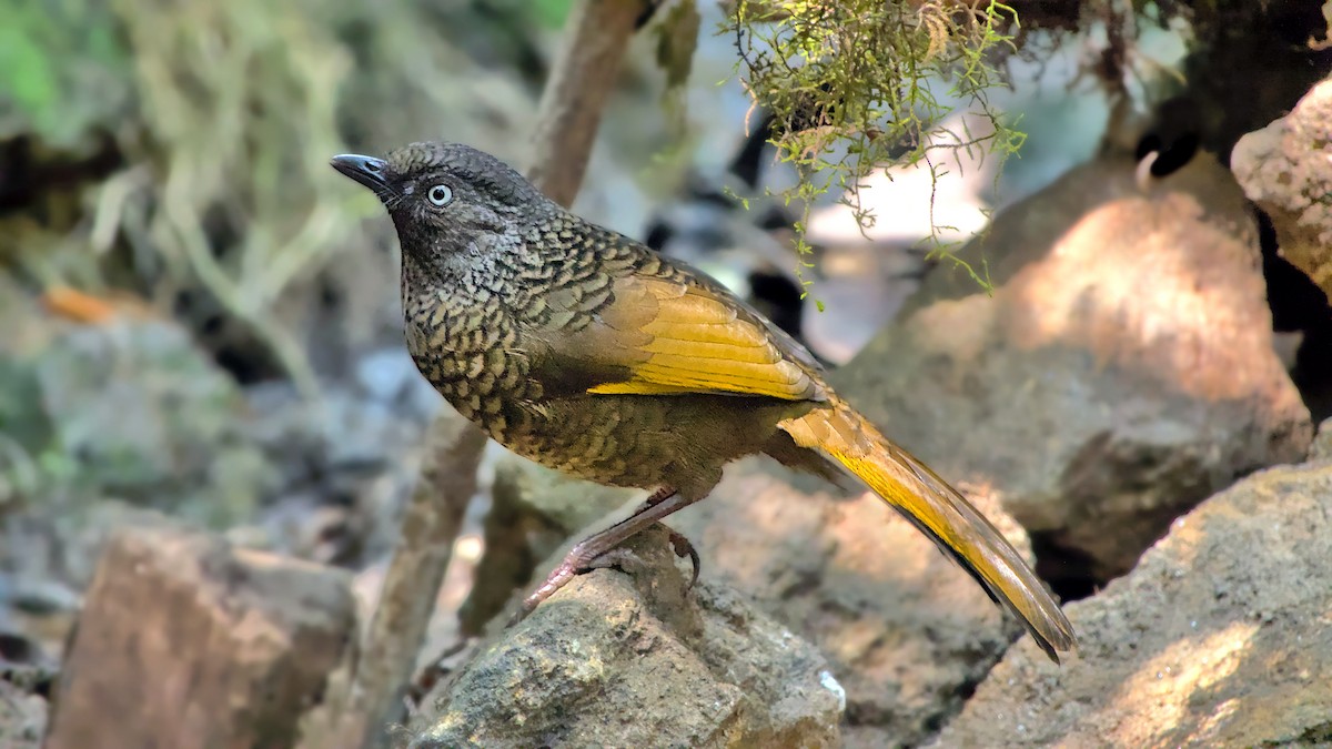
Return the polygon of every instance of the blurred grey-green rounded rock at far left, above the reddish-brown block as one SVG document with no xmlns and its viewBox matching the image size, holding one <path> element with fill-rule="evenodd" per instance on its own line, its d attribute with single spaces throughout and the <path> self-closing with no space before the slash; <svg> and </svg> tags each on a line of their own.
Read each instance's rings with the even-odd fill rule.
<svg viewBox="0 0 1332 749">
<path fill-rule="evenodd" d="M 209 486 L 192 505 L 225 525 L 253 510 L 264 456 L 237 428 L 236 384 L 165 321 L 73 327 L 36 363 L 43 402 L 80 480 L 127 498 L 159 502 Z"/>
</svg>

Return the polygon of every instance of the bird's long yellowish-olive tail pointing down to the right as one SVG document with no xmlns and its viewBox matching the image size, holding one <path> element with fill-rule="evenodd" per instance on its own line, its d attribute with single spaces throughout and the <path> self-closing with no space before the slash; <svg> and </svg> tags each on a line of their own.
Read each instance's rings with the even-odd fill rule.
<svg viewBox="0 0 1332 749">
<path fill-rule="evenodd" d="M 995 602 L 1012 612 L 1059 662 L 1076 648 L 1072 624 L 1016 549 L 976 508 L 911 453 L 832 396 L 778 426 L 798 445 L 832 458 L 902 513 L 971 573 Z"/>
</svg>

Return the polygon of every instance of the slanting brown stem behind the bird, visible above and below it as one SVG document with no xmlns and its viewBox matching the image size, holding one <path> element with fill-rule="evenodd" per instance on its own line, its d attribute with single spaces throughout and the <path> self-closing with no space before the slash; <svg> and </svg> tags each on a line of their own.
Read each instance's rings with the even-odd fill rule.
<svg viewBox="0 0 1332 749">
<path fill-rule="evenodd" d="M 647 0 L 579 0 L 546 83 L 527 173 L 570 205 L 582 185 L 601 112 Z M 404 696 L 425 640 L 486 437 L 454 414 L 432 428 L 433 449 L 404 513 L 402 537 L 385 574 L 342 714 L 344 740 L 385 746 L 404 718 Z"/>
</svg>

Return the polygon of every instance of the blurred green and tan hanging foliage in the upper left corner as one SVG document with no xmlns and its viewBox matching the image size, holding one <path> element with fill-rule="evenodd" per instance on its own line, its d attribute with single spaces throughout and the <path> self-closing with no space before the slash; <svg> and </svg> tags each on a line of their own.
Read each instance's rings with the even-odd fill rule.
<svg viewBox="0 0 1332 749">
<path fill-rule="evenodd" d="M 310 388 L 276 307 L 357 244 L 369 209 L 329 155 L 511 128 L 541 72 L 529 37 L 567 12 L 535 7 L 7 3 L 4 201 L 25 209 L 5 213 L 0 253 L 41 285 L 238 324 Z"/>
</svg>

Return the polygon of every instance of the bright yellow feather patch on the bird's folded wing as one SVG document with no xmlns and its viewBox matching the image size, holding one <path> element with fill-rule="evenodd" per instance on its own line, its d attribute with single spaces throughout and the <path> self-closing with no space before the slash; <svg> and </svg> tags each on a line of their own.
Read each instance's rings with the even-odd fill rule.
<svg viewBox="0 0 1332 749">
<path fill-rule="evenodd" d="M 623 361 L 629 378 L 589 388 L 603 394 L 675 394 L 718 392 L 785 400 L 823 400 L 810 373 L 786 356 L 758 321 L 707 288 L 681 281 L 633 279 L 617 289 L 626 301 L 606 324 L 622 333 L 647 336 Z M 646 293 L 645 293 L 646 292 Z M 629 337 L 629 336 L 626 336 Z"/>
</svg>

